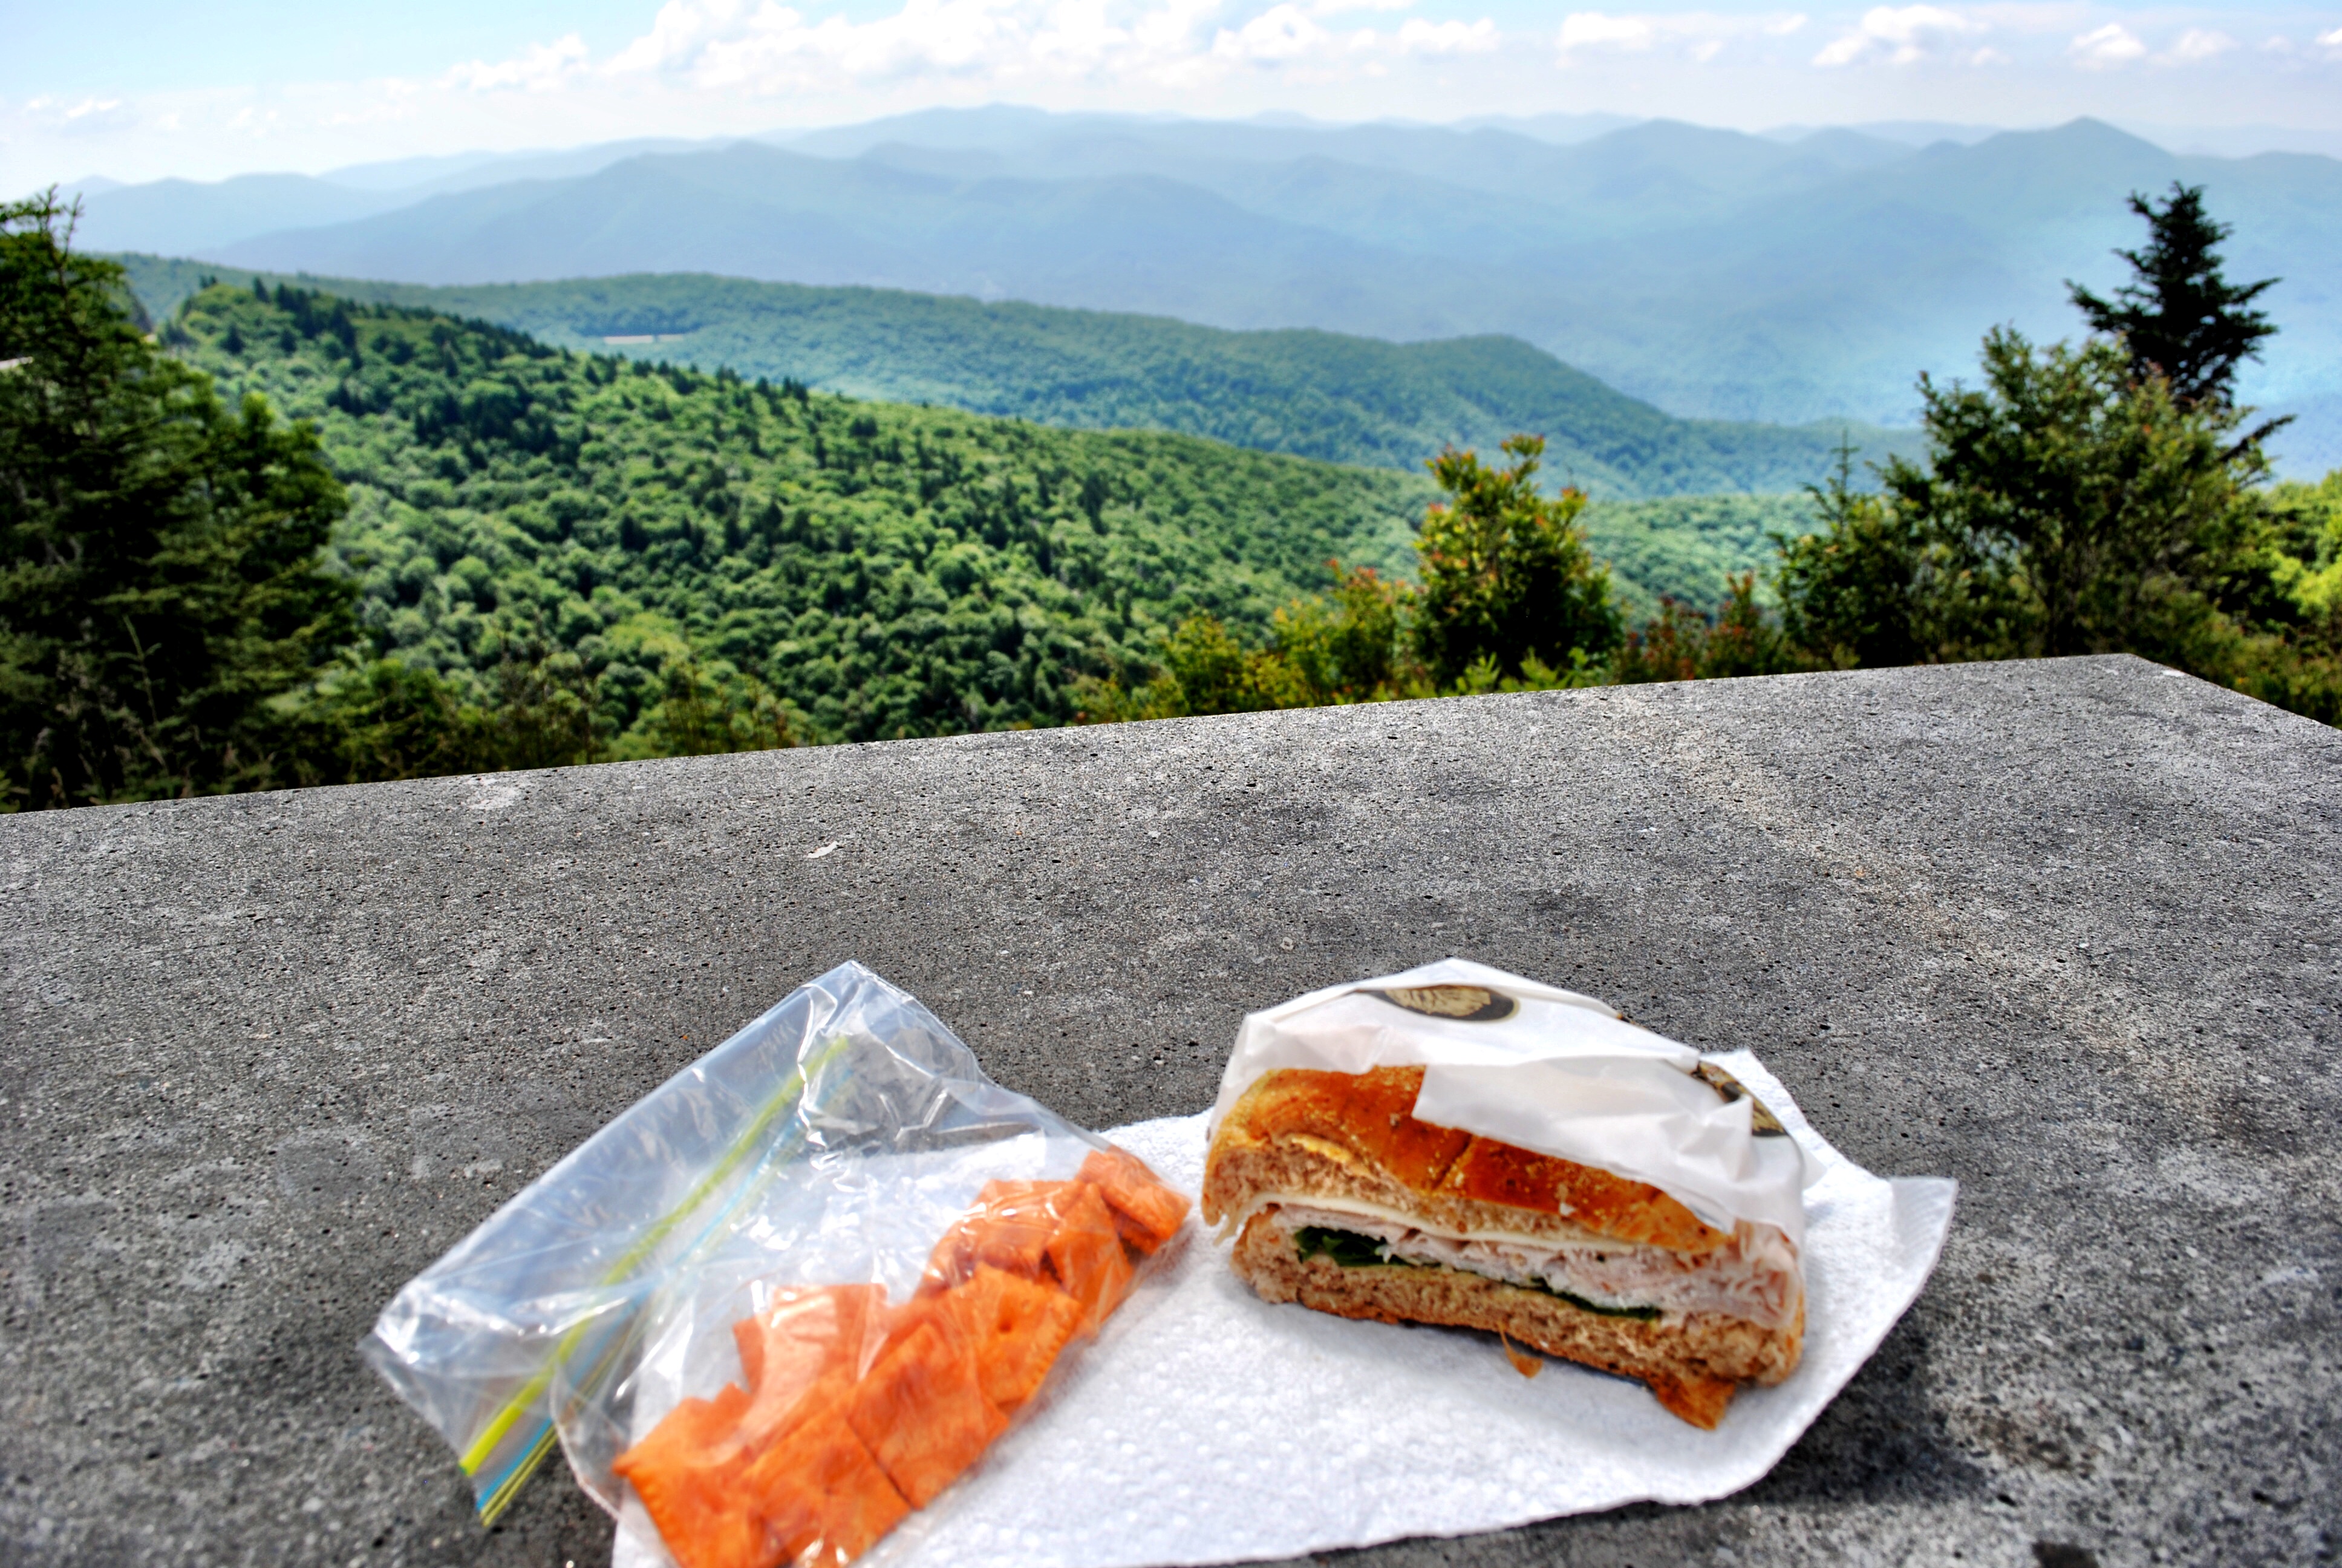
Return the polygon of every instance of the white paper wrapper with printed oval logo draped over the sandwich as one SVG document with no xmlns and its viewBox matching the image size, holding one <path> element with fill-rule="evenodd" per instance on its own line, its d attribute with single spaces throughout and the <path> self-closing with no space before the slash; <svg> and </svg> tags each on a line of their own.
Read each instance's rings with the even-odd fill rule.
<svg viewBox="0 0 2342 1568">
<path fill-rule="evenodd" d="M 1593 996 L 1440 959 L 1248 1015 L 1211 1125 L 1276 1069 L 1422 1066 L 1417 1120 L 1637 1177 L 1719 1230 L 1749 1219 L 1801 1240 L 1817 1172 L 1747 1095 L 1703 1083 L 1700 1062 Z"/>
</svg>

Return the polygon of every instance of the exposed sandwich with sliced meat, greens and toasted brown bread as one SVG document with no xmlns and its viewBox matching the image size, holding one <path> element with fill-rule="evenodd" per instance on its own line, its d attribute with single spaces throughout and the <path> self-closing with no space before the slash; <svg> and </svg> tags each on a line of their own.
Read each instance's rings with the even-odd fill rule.
<svg viewBox="0 0 2342 1568">
<path fill-rule="evenodd" d="M 1639 1378 L 1698 1427 L 1742 1380 L 1796 1371 L 1806 1303 L 1778 1230 L 1719 1230 L 1644 1181 L 1419 1123 L 1422 1080 L 1281 1069 L 1230 1109 L 1204 1219 L 1239 1230 L 1237 1275 L 1265 1301 L 1501 1334 Z"/>
</svg>

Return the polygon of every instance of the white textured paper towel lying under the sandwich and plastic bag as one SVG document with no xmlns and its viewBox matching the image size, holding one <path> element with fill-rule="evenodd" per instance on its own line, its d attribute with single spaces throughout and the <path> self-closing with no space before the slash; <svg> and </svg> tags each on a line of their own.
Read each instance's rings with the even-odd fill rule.
<svg viewBox="0 0 2342 1568">
<path fill-rule="evenodd" d="M 1190 1221 L 1183 1252 L 1108 1320 L 1047 1409 L 862 1563 L 1227 1563 L 1707 1502 L 1754 1484 L 1927 1282 L 1953 1184 L 1871 1177 L 1752 1055 L 1714 1059 L 1820 1172 L 1806 1191 L 1803 1362 L 1780 1388 L 1745 1388 L 1714 1432 L 1668 1416 L 1639 1383 L 1567 1362 L 1522 1378 L 1485 1334 L 1269 1305 Z M 1108 1137 L 1194 1195 L 1204 1123 Z M 660 1559 L 618 1533 L 618 1568 Z"/>
</svg>

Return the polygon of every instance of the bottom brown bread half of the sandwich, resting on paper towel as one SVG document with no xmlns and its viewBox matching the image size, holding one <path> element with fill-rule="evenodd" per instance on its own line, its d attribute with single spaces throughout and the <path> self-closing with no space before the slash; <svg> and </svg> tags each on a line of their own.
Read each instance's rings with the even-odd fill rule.
<svg viewBox="0 0 2342 1568">
<path fill-rule="evenodd" d="M 1588 1313 L 1560 1296 L 1459 1268 L 1302 1261 L 1274 1212 L 1260 1212 L 1244 1226 L 1232 1261 L 1262 1301 L 1297 1301 L 1337 1317 L 1504 1334 L 1546 1355 L 1637 1378 L 1665 1409 L 1705 1430 L 1724 1418 L 1742 1380 L 1780 1383 L 1796 1371 L 1806 1334 L 1803 1305 L 1785 1329 L 1714 1313 L 1646 1322 Z"/>
</svg>

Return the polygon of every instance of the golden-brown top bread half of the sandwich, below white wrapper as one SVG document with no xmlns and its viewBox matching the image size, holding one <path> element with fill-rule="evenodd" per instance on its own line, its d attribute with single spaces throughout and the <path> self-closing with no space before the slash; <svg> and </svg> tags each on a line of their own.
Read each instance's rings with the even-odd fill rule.
<svg viewBox="0 0 2342 1568">
<path fill-rule="evenodd" d="M 1204 1219 L 1265 1193 L 1379 1202 L 1454 1230 L 1515 1230 L 1710 1252 L 1731 1240 L 1656 1186 L 1415 1120 L 1422 1066 L 1262 1073 L 1204 1163 Z"/>
</svg>

